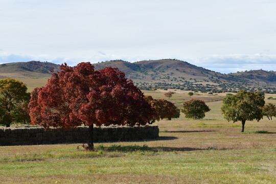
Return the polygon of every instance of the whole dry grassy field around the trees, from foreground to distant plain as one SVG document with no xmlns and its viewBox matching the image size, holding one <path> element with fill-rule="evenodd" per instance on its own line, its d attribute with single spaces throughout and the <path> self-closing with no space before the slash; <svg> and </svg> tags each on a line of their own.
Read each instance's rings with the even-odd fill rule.
<svg viewBox="0 0 276 184">
<path fill-rule="evenodd" d="M 175 92 L 178 106 L 191 99 Z M 0 147 L 0 183 L 276 183 L 276 121 L 246 122 L 241 133 L 240 122 L 223 119 L 223 96 L 192 96 L 211 111 L 202 120 L 156 122 L 158 140 L 97 143 L 95 152 L 79 144 Z"/>
</svg>

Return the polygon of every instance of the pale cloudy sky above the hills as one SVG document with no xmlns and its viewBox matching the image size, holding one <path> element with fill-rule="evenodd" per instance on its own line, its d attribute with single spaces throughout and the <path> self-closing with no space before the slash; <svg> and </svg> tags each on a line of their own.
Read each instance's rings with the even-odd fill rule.
<svg viewBox="0 0 276 184">
<path fill-rule="evenodd" d="M 179 59 L 276 71 L 276 0 L 0 0 L 0 63 Z"/>
</svg>

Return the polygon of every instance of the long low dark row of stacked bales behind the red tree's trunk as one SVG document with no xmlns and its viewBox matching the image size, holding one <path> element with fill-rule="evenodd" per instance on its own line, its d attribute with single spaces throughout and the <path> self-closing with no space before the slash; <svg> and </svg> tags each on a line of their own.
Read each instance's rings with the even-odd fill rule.
<svg viewBox="0 0 276 184">
<path fill-rule="evenodd" d="M 94 127 L 94 142 L 137 141 L 157 139 L 157 125 Z M 0 128 L 0 146 L 38 145 L 58 143 L 87 143 L 88 127 L 71 128 L 69 131 L 42 127 Z"/>
</svg>

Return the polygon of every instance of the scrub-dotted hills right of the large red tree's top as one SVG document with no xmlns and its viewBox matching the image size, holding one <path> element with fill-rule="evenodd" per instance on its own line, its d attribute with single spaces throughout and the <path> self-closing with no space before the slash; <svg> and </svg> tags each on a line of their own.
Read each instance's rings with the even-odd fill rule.
<svg viewBox="0 0 276 184">
<path fill-rule="evenodd" d="M 276 72 L 245 71 L 221 74 L 176 59 L 145 60 L 130 63 L 113 60 L 93 64 L 96 70 L 105 66 L 118 67 L 128 79 L 138 83 L 187 83 L 220 85 L 235 83 L 244 86 L 276 86 Z"/>
</svg>

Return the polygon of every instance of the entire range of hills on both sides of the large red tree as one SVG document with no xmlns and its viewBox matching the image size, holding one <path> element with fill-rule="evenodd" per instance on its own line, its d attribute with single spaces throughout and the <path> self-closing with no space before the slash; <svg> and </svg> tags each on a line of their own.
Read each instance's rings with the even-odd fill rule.
<svg viewBox="0 0 276 184">
<path fill-rule="evenodd" d="M 147 83 L 163 87 L 178 87 L 188 90 L 206 88 L 266 88 L 275 90 L 276 72 L 245 71 L 221 74 L 203 67 L 177 59 L 144 60 L 130 63 L 123 60 L 112 60 L 93 64 L 95 70 L 106 66 L 118 67 L 133 80 L 136 85 L 145 87 Z M 17 62 L 0 65 L 0 78 L 50 78 L 51 68 L 60 70 L 60 65 L 50 62 Z"/>
</svg>

